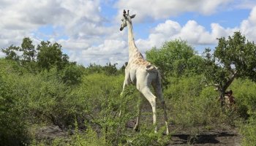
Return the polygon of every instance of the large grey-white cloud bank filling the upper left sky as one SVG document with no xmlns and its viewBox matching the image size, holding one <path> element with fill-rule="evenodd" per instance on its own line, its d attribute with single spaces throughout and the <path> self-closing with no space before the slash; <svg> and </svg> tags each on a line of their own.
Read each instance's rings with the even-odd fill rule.
<svg viewBox="0 0 256 146">
<path fill-rule="evenodd" d="M 8 40 L 1 47 L 20 45 L 23 37 L 35 37 L 34 32 L 42 26 L 62 27 L 63 32 L 59 33 L 70 40 L 86 40 L 110 31 L 102 27 L 99 0 L 10 0 L 0 1 L 0 6 L 0 42 Z"/>
</svg>

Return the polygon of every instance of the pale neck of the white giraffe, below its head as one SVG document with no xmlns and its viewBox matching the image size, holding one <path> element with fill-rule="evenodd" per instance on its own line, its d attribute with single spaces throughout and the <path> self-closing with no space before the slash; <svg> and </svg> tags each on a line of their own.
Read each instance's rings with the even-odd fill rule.
<svg viewBox="0 0 256 146">
<path fill-rule="evenodd" d="M 128 27 L 128 46 L 129 46 L 129 58 L 132 58 L 133 55 L 140 53 L 138 48 L 135 45 L 135 39 L 133 36 L 132 23 L 127 21 Z"/>
</svg>

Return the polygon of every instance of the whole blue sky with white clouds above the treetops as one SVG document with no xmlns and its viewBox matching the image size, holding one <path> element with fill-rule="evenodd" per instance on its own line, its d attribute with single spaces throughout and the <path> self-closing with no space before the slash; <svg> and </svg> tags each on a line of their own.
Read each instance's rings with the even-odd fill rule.
<svg viewBox="0 0 256 146">
<path fill-rule="evenodd" d="M 255 0 L 0 0 L 0 48 L 30 37 L 35 45 L 58 42 L 84 66 L 121 66 L 128 61 L 127 29 L 119 31 L 123 9 L 136 14 L 132 24 L 141 53 L 173 39 L 200 53 L 234 31 L 256 42 Z"/>
</svg>

